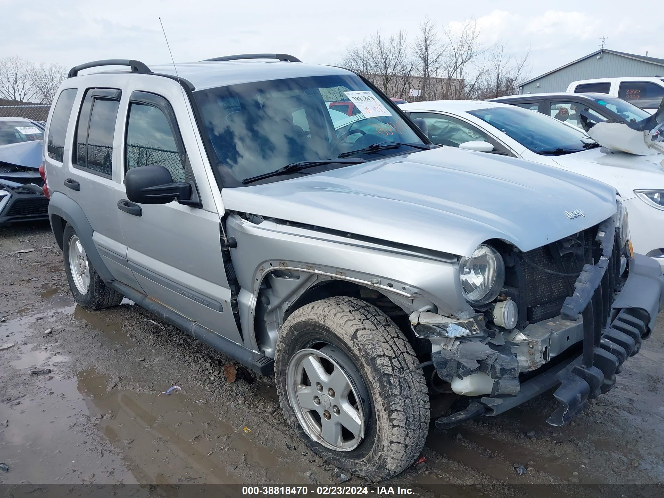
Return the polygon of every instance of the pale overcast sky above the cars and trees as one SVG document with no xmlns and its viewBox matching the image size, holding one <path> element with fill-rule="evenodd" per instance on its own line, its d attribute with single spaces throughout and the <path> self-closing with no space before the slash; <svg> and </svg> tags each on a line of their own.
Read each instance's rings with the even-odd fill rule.
<svg viewBox="0 0 664 498">
<path fill-rule="evenodd" d="M 344 47 L 378 29 L 414 38 L 428 15 L 440 27 L 474 17 L 487 44 L 531 49 L 531 76 L 599 48 L 664 58 L 661 3 L 624 1 L 171 1 L 0 0 L 0 57 L 74 66 L 103 58 L 169 62 L 248 52 L 285 52 L 334 64 Z M 649 15 L 649 8 L 653 9 Z"/>
</svg>

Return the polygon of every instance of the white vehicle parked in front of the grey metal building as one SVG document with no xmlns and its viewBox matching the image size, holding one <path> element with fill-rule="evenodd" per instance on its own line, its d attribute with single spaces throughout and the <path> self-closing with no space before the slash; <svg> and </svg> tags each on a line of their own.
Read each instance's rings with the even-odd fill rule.
<svg viewBox="0 0 664 498">
<path fill-rule="evenodd" d="M 571 82 L 566 91 L 575 94 L 588 92 L 609 94 L 627 100 L 650 114 L 655 114 L 664 98 L 664 77 L 631 76 L 579 80 Z"/>
</svg>

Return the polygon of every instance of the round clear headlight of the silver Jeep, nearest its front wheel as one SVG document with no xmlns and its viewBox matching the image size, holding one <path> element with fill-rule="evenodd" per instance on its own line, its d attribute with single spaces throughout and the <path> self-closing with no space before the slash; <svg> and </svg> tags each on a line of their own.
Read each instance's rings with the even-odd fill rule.
<svg viewBox="0 0 664 498">
<path fill-rule="evenodd" d="M 459 278 L 466 301 L 475 305 L 490 303 L 505 284 L 505 263 L 497 250 L 480 244 L 473 256 L 459 260 Z"/>
</svg>

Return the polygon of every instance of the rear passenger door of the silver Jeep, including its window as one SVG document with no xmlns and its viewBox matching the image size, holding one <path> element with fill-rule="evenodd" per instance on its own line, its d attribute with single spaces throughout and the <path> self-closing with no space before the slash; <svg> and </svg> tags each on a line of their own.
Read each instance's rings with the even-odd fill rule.
<svg viewBox="0 0 664 498">
<path fill-rule="evenodd" d="M 72 152 L 64 157 L 67 171 L 64 193 L 82 208 L 94 234 L 92 241 L 113 276 L 137 290 L 140 286 L 127 268 L 116 197 L 120 189 L 120 164 L 114 138 L 122 133 L 118 88 L 86 88 L 78 106 Z"/>
</svg>

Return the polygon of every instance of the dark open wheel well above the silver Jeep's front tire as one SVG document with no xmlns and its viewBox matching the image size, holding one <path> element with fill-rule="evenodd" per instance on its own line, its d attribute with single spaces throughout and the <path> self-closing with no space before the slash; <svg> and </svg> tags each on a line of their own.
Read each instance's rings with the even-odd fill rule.
<svg viewBox="0 0 664 498">
<path fill-rule="evenodd" d="M 394 321 L 394 323 L 396 323 L 396 326 L 399 327 L 400 331 L 404 334 L 418 357 L 420 355 L 427 356 L 431 353 L 431 342 L 415 337 L 415 334 L 410 327 L 408 313 L 404 311 L 404 309 L 393 303 L 380 291 L 359 284 L 354 284 L 353 282 L 326 280 L 315 286 L 311 286 L 311 288 L 304 291 L 304 293 L 288 307 L 284 313 L 284 321 L 291 313 L 293 313 L 293 311 L 304 305 L 313 303 L 313 301 L 320 301 L 327 297 L 336 297 L 339 295 L 362 299 L 380 309 L 380 311 L 385 313 L 392 321 Z"/>
</svg>

